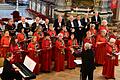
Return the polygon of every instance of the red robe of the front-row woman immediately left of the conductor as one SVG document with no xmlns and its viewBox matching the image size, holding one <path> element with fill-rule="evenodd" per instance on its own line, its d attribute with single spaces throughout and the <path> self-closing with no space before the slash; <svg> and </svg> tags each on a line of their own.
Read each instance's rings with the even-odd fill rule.
<svg viewBox="0 0 120 80">
<path fill-rule="evenodd" d="M 77 40 L 68 40 L 68 48 L 67 48 L 67 67 L 70 69 L 70 68 L 75 68 L 75 63 L 74 63 L 74 60 L 75 60 L 75 57 L 72 53 L 72 51 L 70 50 L 70 48 L 75 48 L 76 46 L 78 46 L 78 43 L 77 43 Z"/>
</svg>

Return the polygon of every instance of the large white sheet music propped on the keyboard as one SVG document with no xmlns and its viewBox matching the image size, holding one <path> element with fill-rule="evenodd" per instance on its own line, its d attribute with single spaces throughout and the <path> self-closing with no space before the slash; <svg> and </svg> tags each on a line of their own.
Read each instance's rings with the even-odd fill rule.
<svg viewBox="0 0 120 80">
<path fill-rule="evenodd" d="M 34 70 L 34 68 L 36 66 L 36 62 L 33 61 L 28 56 L 25 57 L 25 60 L 24 60 L 23 64 L 32 72 L 33 72 L 33 70 Z"/>
</svg>

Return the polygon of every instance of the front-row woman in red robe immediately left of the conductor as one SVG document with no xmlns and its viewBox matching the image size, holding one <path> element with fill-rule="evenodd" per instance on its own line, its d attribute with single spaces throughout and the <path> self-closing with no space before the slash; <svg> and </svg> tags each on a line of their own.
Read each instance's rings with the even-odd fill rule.
<svg viewBox="0 0 120 80">
<path fill-rule="evenodd" d="M 77 39 L 75 39 L 75 35 L 71 34 L 70 39 L 68 40 L 68 48 L 67 48 L 67 68 L 74 69 L 75 68 L 75 57 L 73 53 L 75 52 L 75 49 L 78 48 Z"/>
</svg>

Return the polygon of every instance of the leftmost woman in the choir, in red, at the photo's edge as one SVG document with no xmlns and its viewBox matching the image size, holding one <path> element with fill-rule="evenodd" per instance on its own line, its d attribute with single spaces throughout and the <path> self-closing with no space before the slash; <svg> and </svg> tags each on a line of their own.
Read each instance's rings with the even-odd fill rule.
<svg viewBox="0 0 120 80">
<path fill-rule="evenodd" d="M 6 53 L 10 51 L 10 41 L 11 37 L 9 31 L 4 31 L 4 36 L 1 38 L 1 56 L 6 58 Z"/>
</svg>

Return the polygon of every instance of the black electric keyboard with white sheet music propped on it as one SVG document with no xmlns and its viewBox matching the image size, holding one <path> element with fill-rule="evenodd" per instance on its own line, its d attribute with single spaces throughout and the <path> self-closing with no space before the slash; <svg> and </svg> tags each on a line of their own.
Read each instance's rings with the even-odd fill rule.
<svg viewBox="0 0 120 80">
<path fill-rule="evenodd" d="M 36 66 L 36 62 L 33 61 L 28 56 L 25 57 L 25 60 L 22 63 L 13 64 L 14 67 L 18 67 L 20 69 L 19 73 L 23 76 L 23 78 L 27 79 L 35 79 L 36 75 L 33 73 L 33 70 Z"/>
</svg>

